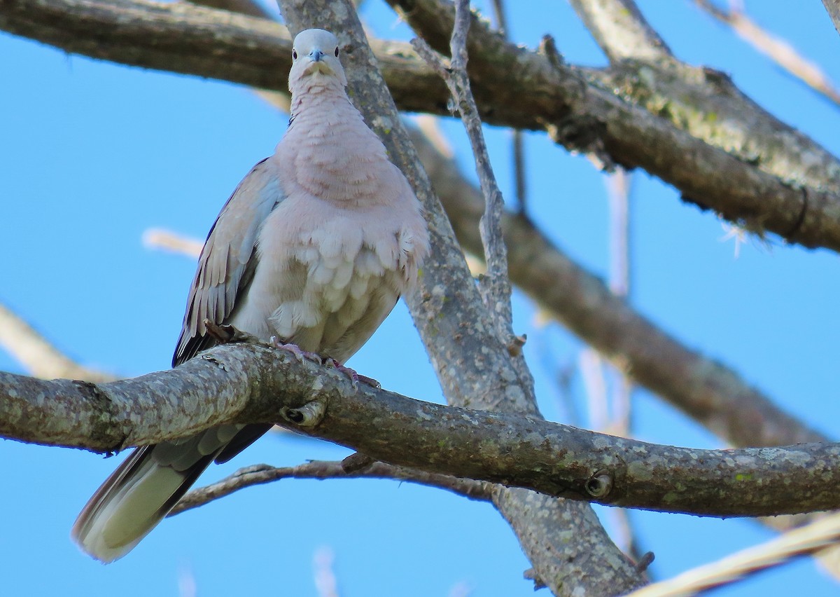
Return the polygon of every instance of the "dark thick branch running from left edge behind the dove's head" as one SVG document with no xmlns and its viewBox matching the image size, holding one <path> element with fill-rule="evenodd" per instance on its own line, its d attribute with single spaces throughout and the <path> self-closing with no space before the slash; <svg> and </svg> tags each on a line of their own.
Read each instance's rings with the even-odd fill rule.
<svg viewBox="0 0 840 597">
<path fill-rule="evenodd" d="M 291 67 L 285 26 L 192 3 L 5 0 L 0 29 L 92 58 L 280 92 Z M 435 98 L 445 105 L 446 87 L 409 45 L 379 42 L 376 50 L 404 109 Z"/>
</svg>

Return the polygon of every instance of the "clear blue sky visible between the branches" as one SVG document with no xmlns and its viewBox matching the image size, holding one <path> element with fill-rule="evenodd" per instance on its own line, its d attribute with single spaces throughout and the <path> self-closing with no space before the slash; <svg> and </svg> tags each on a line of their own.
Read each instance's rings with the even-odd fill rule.
<svg viewBox="0 0 840 597">
<path fill-rule="evenodd" d="M 511 6 L 514 3 L 509 3 Z M 573 63 L 604 58 L 566 3 L 516 3 L 513 37 L 535 46 L 554 34 Z M 786 77 L 690 2 L 639 3 L 681 60 L 732 74 L 748 95 L 837 154 L 840 113 Z M 840 81 L 838 36 L 819 2 L 747 2 L 749 14 Z M 381 3 L 365 18 L 382 37 L 408 29 Z M 153 227 L 203 238 L 241 177 L 273 151 L 286 127 L 243 87 L 118 66 L 0 34 L 0 301 L 85 365 L 125 376 L 168 367 L 192 278 L 187 257 L 144 248 Z M 444 121 L 465 175 L 472 160 L 459 123 Z M 512 198 L 508 134 L 488 129 L 502 192 Z M 527 136 L 529 211 L 575 259 L 606 275 L 602 175 L 544 135 Z M 778 240 L 734 257 L 712 214 L 644 172 L 634 175 L 632 302 L 687 345 L 742 372 L 801 419 L 840 435 L 837 400 L 837 256 Z M 535 323 L 515 297 L 516 327 L 543 413 L 558 419 L 554 375 L 581 345 L 561 326 Z M 440 400 L 432 368 L 401 304 L 350 364 L 389 388 Z M 0 352 L 0 368 L 21 372 Z M 583 404 L 580 378 L 573 390 Z M 635 431 L 682 446 L 721 442 L 643 390 Z M 257 462 L 285 465 L 348 452 L 287 435 L 259 441 L 202 483 Z M 166 520 L 108 567 L 69 540 L 76 513 L 115 460 L 0 442 L 3 594 L 179 594 L 190 577 L 203 596 L 314 595 L 313 555 L 335 556 L 343 595 L 528 595 L 529 567 L 489 505 L 409 483 L 283 481 Z M 634 512 L 660 578 L 773 536 L 749 520 Z M 788 564 L 719 594 L 836 594 L 811 560 Z"/>
</svg>

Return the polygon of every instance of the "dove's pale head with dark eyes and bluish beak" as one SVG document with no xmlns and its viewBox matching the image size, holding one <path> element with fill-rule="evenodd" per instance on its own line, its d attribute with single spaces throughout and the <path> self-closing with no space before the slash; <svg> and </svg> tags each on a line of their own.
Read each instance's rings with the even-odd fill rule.
<svg viewBox="0 0 840 597">
<path fill-rule="evenodd" d="M 339 62 L 339 40 L 323 29 L 306 29 L 295 37 L 291 50 L 289 90 L 302 87 L 328 87 L 338 82 L 347 86 L 347 77 Z"/>
</svg>

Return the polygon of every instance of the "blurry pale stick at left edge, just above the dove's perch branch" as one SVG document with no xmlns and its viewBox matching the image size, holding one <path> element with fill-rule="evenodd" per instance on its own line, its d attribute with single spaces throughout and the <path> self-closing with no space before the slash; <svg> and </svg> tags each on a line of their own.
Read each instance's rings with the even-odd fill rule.
<svg viewBox="0 0 840 597">
<path fill-rule="evenodd" d="M 0 304 L 0 346 L 37 378 L 112 382 L 117 376 L 82 367 L 59 351 L 11 309 Z"/>
</svg>

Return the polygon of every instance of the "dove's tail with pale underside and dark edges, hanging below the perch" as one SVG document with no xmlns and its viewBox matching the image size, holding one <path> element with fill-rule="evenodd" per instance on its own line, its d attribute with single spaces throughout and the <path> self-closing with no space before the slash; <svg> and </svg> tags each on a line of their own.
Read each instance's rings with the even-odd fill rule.
<svg viewBox="0 0 840 597">
<path fill-rule="evenodd" d="M 88 500 L 71 531 L 83 551 L 103 563 L 123 557 L 175 507 L 216 456 L 200 456 L 183 468 L 163 465 L 155 450 L 164 446 L 134 450 Z"/>
</svg>

